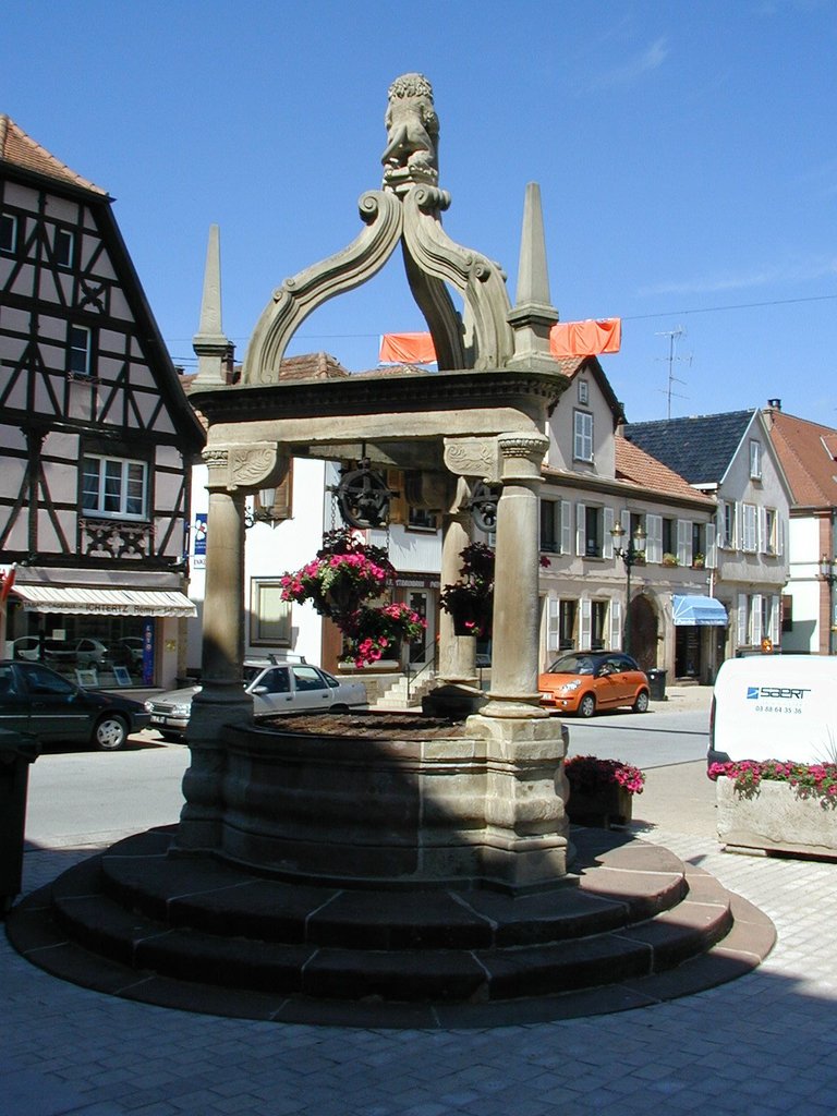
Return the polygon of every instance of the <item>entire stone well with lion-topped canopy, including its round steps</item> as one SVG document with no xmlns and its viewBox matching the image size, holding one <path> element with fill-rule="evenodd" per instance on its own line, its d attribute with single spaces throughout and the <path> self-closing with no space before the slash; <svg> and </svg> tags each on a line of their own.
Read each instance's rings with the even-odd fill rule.
<svg viewBox="0 0 837 1116">
<path fill-rule="evenodd" d="M 359 235 L 277 288 L 237 384 L 222 375 L 211 244 L 192 388 L 209 423 L 203 689 L 185 805 L 176 826 L 28 896 L 9 936 L 41 968 L 104 992 L 276 1021 L 536 1021 L 730 980 L 772 945 L 759 912 L 664 848 L 593 829 L 574 831 L 575 856 L 569 844 L 566 732 L 537 692 L 538 489 L 547 415 L 566 386 L 549 354 L 557 312 L 538 189 L 526 194 L 512 307 L 498 266 L 442 229 L 450 198 L 425 78 L 393 83 L 386 123 L 383 187 L 360 199 Z M 440 371 L 286 377 L 306 316 L 398 246 Z M 459 731 L 439 720 L 343 735 L 296 719 L 253 724 L 241 681 L 244 503 L 306 454 L 420 478 L 411 500 L 442 518 L 446 583 L 475 490 L 499 491 L 492 689 Z M 443 681 L 465 693 L 473 645 L 442 617 Z"/>
</svg>

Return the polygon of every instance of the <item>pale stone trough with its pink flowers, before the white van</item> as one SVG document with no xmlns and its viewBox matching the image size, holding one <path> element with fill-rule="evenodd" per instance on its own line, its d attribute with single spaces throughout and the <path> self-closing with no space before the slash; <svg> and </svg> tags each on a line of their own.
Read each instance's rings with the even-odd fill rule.
<svg viewBox="0 0 837 1116">
<path fill-rule="evenodd" d="M 727 848 L 837 859 L 837 764 L 712 763 Z"/>
</svg>

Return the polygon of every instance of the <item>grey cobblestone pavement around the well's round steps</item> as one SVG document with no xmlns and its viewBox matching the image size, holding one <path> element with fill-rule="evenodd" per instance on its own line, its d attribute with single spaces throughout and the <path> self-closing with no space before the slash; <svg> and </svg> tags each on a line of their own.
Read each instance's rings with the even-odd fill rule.
<svg viewBox="0 0 837 1116">
<path fill-rule="evenodd" d="M 728 855 L 684 828 L 643 839 L 756 903 L 778 944 L 748 977 L 613 1016 L 448 1032 L 219 1019 L 66 984 L 0 935 L 0 1116 L 831 1116 L 837 865 Z M 27 853 L 26 889 L 90 852 Z"/>
</svg>

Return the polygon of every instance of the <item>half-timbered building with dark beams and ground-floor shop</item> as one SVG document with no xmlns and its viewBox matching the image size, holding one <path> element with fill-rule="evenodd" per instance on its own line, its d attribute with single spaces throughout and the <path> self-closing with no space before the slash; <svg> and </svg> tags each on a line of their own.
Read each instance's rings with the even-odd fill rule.
<svg viewBox="0 0 837 1116">
<path fill-rule="evenodd" d="M 7 654 L 99 685 L 182 672 L 191 464 L 203 441 L 113 199 L 0 116 Z"/>
</svg>

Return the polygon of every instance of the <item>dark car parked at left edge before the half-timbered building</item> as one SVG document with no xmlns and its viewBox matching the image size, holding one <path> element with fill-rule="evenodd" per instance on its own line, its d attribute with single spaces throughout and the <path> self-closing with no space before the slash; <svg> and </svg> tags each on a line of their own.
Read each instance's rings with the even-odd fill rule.
<svg viewBox="0 0 837 1116">
<path fill-rule="evenodd" d="M 148 714 L 129 698 L 84 690 L 42 663 L 0 662 L 0 729 L 29 733 L 41 743 L 90 743 L 113 751 L 147 724 Z"/>
</svg>

